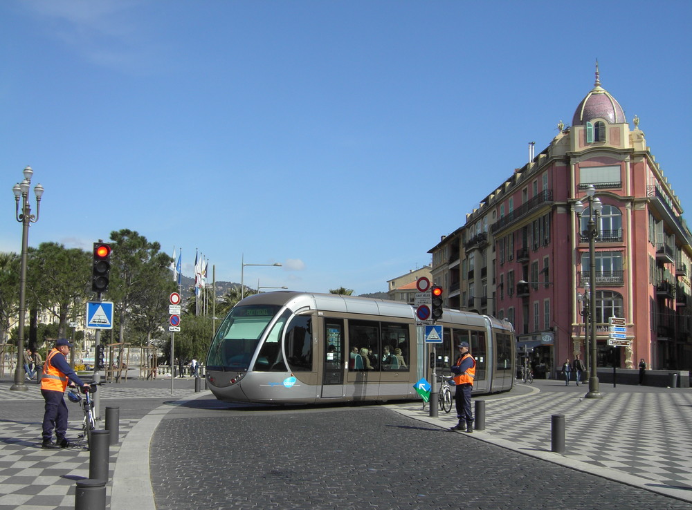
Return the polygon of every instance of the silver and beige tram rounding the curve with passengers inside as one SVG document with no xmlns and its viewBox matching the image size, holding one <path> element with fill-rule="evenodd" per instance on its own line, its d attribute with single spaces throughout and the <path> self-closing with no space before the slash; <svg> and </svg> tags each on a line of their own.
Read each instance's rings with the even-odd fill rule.
<svg viewBox="0 0 692 510">
<path fill-rule="evenodd" d="M 474 393 L 511 389 L 515 338 L 508 322 L 444 310 L 437 373 L 455 346 L 476 359 Z M 265 404 L 419 399 L 432 357 L 411 305 L 307 292 L 248 296 L 221 323 L 206 361 L 208 388 L 224 402 Z M 428 379 L 429 380 L 429 379 Z"/>
</svg>

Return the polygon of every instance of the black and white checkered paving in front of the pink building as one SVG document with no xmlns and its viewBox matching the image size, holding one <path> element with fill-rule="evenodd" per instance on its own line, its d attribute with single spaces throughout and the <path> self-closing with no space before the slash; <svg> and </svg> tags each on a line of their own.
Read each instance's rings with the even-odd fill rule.
<svg viewBox="0 0 692 510">
<path fill-rule="evenodd" d="M 602 392 L 601 399 L 584 399 L 586 389 L 487 399 L 485 430 L 473 437 L 692 501 L 692 390 Z M 407 411 L 412 417 L 429 413 L 420 406 Z M 551 451 L 552 415 L 565 417 L 561 454 Z M 454 410 L 422 419 L 457 422 Z"/>
</svg>

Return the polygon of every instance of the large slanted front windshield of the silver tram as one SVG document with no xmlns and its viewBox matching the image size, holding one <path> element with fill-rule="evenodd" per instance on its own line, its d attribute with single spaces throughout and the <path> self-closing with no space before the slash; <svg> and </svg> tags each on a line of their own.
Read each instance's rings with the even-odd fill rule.
<svg viewBox="0 0 692 510">
<path fill-rule="evenodd" d="M 275 305 L 236 306 L 221 323 L 209 348 L 208 370 L 247 370 Z"/>
</svg>

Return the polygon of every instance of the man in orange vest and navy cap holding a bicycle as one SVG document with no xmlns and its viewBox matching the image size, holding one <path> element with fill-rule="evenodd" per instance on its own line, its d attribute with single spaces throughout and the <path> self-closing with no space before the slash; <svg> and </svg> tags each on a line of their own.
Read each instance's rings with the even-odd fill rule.
<svg viewBox="0 0 692 510">
<path fill-rule="evenodd" d="M 41 377 L 41 395 L 46 401 L 43 421 L 42 448 L 60 449 L 73 446 L 65 437 L 67 433 L 67 415 L 69 411 L 65 404 L 65 390 L 69 379 L 82 390 L 88 390 L 89 384 L 80 379 L 67 362 L 67 354 L 72 344 L 66 339 L 55 342 L 55 348 L 46 356 L 46 363 Z M 55 442 L 53 429 L 55 428 Z"/>
</svg>

